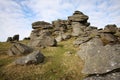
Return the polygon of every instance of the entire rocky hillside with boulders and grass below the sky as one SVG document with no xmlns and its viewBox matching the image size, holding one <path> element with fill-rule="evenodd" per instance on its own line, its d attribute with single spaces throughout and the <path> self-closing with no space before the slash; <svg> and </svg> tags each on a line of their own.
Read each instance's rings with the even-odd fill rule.
<svg viewBox="0 0 120 80">
<path fill-rule="evenodd" d="M 0 77 L 5 80 L 119 80 L 120 28 L 90 26 L 75 11 L 67 20 L 32 23 L 30 37 L 0 43 Z"/>
</svg>

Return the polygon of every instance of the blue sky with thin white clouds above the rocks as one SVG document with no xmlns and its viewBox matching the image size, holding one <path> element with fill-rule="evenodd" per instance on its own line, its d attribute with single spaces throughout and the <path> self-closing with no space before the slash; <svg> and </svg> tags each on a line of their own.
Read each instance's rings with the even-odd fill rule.
<svg viewBox="0 0 120 80">
<path fill-rule="evenodd" d="M 120 27 L 120 0 L 0 0 L 0 41 L 28 37 L 32 22 L 67 19 L 76 10 L 89 16 L 91 26 Z"/>
</svg>

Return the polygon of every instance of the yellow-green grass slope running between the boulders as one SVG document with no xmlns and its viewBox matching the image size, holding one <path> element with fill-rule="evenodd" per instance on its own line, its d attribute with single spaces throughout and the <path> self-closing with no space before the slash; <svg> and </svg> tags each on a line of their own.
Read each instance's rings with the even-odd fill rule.
<svg viewBox="0 0 120 80">
<path fill-rule="evenodd" d="M 6 55 L 11 44 L 0 43 L 0 80 L 82 80 L 83 62 L 76 55 L 78 49 L 73 41 L 74 38 L 58 43 L 57 47 L 37 48 L 46 56 L 44 63 L 25 66 L 13 65 L 17 57 Z"/>
</svg>

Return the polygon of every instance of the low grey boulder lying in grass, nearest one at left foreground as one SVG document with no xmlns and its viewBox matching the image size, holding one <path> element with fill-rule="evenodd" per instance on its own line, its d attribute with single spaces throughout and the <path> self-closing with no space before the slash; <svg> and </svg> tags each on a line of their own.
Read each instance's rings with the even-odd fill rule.
<svg viewBox="0 0 120 80">
<path fill-rule="evenodd" d="M 34 51 L 31 54 L 17 59 L 14 63 L 16 65 L 39 64 L 44 61 L 44 55 L 40 51 Z"/>
</svg>

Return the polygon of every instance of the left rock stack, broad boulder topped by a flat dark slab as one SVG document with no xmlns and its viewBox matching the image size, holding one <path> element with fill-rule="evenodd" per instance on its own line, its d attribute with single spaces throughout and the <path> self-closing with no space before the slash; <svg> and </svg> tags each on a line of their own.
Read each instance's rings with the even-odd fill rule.
<svg viewBox="0 0 120 80">
<path fill-rule="evenodd" d="M 32 24 L 32 28 L 34 30 L 31 32 L 30 35 L 29 46 L 47 47 L 57 45 L 56 40 L 52 37 L 52 26 L 50 23 L 37 21 Z"/>
</svg>

